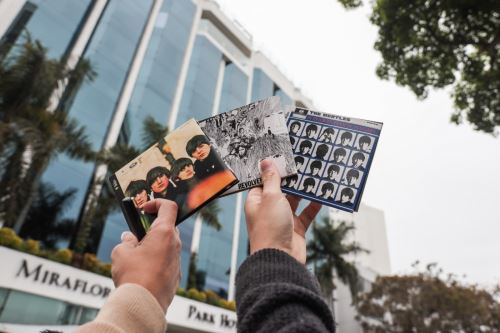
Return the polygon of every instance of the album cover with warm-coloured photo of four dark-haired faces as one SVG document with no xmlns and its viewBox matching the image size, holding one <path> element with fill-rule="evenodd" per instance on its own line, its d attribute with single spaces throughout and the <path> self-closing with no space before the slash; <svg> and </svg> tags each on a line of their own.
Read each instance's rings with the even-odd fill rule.
<svg viewBox="0 0 500 333">
<path fill-rule="evenodd" d="M 146 201 L 175 201 L 178 224 L 237 181 L 194 119 L 109 177 L 127 223 L 139 223 L 146 230 L 154 218 L 139 209 Z M 127 201 L 128 206 L 132 201 L 138 208 L 139 221 L 137 216 L 132 217 L 136 215 L 133 211 L 127 210 Z"/>
</svg>

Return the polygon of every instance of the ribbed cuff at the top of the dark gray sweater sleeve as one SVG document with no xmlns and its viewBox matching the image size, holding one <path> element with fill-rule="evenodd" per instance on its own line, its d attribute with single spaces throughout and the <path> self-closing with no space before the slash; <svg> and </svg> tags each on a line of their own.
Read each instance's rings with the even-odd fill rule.
<svg viewBox="0 0 500 333">
<path fill-rule="evenodd" d="M 277 249 L 255 252 L 241 264 L 236 276 L 237 291 L 276 282 L 300 285 L 315 293 L 319 291 L 316 279 L 305 265 Z"/>
</svg>

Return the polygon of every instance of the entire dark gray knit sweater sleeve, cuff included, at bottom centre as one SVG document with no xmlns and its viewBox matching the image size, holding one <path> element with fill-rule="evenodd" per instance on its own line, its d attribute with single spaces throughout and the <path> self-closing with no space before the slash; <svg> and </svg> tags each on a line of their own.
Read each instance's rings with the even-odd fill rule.
<svg viewBox="0 0 500 333">
<path fill-rule="evenodd" d="M 314 276 L 287 253 L 264 249 L 236 276 L 238 332 L 335 332 Z"/>
</svg>

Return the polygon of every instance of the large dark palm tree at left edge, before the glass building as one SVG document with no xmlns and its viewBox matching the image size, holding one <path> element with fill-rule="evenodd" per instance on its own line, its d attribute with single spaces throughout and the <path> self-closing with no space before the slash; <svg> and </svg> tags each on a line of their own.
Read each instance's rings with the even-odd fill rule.
<svg viewBox="0 0 500 333">
<path fill-rule="evenodd" d="M 37 195 L 39 179 L 58 154 L 93 160 L 85 129 L 62 106 L 49 110 L 61 83 L 70 96 L 95 73 L 86 60 L 73 70 L 49 59 L 47 49 L 27 35 L 0 62 L 0 224 L 20 230 Z"/>
</svg>

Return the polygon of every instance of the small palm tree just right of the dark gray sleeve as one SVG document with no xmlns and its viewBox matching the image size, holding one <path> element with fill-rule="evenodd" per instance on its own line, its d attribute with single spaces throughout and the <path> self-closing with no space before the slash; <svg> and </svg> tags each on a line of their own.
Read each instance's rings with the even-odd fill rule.
<svg viewBox="0 0 500 333">
<path fill-rule="evenodd" d="M 352 298 L 359 290 L 359 273 L 353 262 L 346 256 L 367 252 L 356 242 L 346 243 L 347 235 L 355 228 L 346 222 L 332 223 L 323 218 L 318 226 L 313 224 L 312 240 L 307 243 L 307 261 L 313 264 L 322 292 L 333 310 L 333 290 L 335 276 L 349 286 Z"/>
</svg>

